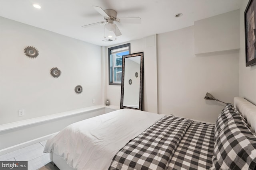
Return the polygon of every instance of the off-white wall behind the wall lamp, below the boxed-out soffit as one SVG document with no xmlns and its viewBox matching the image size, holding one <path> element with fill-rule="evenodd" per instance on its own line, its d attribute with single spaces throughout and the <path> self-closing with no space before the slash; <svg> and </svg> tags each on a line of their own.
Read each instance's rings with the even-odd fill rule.
<svg viewBox="0 0 256 170">
<path fill-rule="evenodd" d="M 215 122 L 238 96 L 238 51 L 194 55 L 194 26 L 158 34 L 158 113 Z"/>
</svg>

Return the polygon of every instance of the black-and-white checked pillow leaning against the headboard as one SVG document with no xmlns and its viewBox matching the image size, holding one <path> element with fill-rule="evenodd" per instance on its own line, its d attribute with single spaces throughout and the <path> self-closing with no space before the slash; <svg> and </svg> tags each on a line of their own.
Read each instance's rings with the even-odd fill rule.
<svg viewBox="0 0 256 170">
<path fill-rule="evenodd" d="M 227 104 L 218 116 L 214 140 L 210 170 L 256 167 L 256 135 L 232 104 Z"/>
</svg>

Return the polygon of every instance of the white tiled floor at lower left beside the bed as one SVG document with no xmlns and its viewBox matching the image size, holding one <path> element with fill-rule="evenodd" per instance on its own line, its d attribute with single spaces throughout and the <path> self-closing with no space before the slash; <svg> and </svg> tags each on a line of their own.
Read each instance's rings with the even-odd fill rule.
<svg viewBox="0 0 256 170">
<path fill-rule="evenodd" d="M 46 141 L 42 141 L 28 147 L 0 155 L 0 160 L 28 161 L 28 170 L 37 170 L 50 162 L 49 153 L 43 153 Z"/>
</svg>

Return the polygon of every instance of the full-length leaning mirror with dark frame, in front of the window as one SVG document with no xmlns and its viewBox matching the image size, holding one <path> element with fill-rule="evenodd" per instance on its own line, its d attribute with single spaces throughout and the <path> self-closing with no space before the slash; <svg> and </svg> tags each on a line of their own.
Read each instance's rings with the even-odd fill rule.
<svg viewBox="0 0 256 170">
<path fill-rule="evenodd" d="M 120 108 L 142 110 L 143 52 L 124 55 Z"/>
</svg>

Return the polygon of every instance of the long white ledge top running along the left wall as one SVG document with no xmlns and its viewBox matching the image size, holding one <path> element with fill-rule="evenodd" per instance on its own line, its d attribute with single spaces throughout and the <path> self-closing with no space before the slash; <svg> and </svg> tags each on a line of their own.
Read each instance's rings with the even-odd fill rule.
<svg viewBox="0 0 256 170">
<path fill-rule="evenodd" d="M 75 109 L 75 110 L 65 111 L 65 112 L 61 112 L 61 113 L 56 113 L 56 114 L 52 114 L 52 115 L 46 115 L 46 116 L 42 116 L 42 117 L 36 117 L 36 118 L 32 118 L 32 119 L 27 119 L 27 120 L 6 123 L 3 125 L 0 125 L 0 132 L 7 131 L 10 129 L 15 129 L 18 127 L 33 125 L 33 124 L 41 123 L 41 122 L 45 122 L 45 121 L 52 121 L 54 119 L 59 119 L 62 117 L 67 117 L 67 116 L 76 115 L 76 114 L 80 114 L 80 113 L 86 113 L 86 112 L 94 111 L 94 110 L 98 110 L 98 109 L 105 109 L 105 107 L 108 108 L 108 106 L 105 106 L 105 105 L 90 106 L 90 107 L 84 107 L 81 109 Z"/>
</svg>

